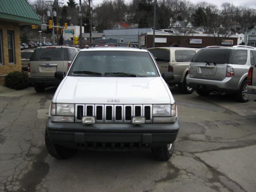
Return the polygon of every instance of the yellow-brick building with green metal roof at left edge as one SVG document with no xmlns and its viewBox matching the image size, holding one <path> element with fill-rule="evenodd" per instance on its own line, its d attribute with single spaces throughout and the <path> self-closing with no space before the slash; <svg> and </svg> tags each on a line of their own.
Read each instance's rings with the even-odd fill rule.
<svg viewBox="0 0 256 192">
<path fill-rule="evenodd" d="M 13 71 L 21 71 L 20 25 L 42 24 L 26 0 L 0 0 L 0 85 Z"/>
</svg>

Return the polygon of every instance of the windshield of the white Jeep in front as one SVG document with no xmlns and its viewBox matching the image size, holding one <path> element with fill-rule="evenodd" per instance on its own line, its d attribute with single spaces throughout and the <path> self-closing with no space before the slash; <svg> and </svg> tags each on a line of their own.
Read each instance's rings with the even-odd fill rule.
<svg viewBox="0 0 256 192">
<path fill-rule="evenodd" d="M 156 77 L 158 72 L 148 52 L 81 51 L 68 75 Z"/>
</svg>

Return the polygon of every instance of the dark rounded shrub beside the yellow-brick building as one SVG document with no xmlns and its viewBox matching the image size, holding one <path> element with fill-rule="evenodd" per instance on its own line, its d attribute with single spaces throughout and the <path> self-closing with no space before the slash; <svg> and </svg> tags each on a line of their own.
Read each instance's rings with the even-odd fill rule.
<svg viewBox="0 0 256 192">
<path fill-rule="evenodd" d="M 16 90 L 28 87 L 27 73 L 24 71 L 10 72 L 5 76 L 5 86 Z"/>
</svg>

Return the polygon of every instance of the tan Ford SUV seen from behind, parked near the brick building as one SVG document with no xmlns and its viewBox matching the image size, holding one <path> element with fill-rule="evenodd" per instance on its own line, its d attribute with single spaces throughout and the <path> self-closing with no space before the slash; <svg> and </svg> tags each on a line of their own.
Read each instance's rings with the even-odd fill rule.
<svg viewBox="0 0 256 192">
<path fill-rule="evenodd" d="M 54 73 L 57 70 L 66 73 L 78 50 L 66 46 L 36 48 L 28 64 L 28 81 L 34 85 L 36 92 L 57 86 L 60 81 L 54 78 Z"/>
</svg>

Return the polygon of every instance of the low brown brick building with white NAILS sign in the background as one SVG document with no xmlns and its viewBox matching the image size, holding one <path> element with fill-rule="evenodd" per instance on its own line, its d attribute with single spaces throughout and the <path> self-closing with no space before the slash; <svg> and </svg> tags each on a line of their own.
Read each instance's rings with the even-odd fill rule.
<svg viewBox="0 0 256 192">
<path fill-rule="evenodd" d="M 206 46 L 234 46 L 237 45 L 238 36 L 214 36 L 213 34 L 190 34 L 188 36 L 177 36 L 171 33 L 156 33 L 155 47 L 190 47 L 203 48 Z M 147 32 L 139 36 L 142 48 L 151 48 L 153 45 L 153 32 Z"/>
</svg>

